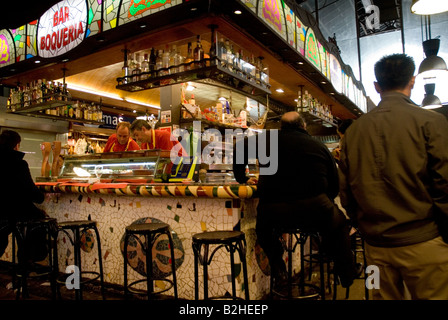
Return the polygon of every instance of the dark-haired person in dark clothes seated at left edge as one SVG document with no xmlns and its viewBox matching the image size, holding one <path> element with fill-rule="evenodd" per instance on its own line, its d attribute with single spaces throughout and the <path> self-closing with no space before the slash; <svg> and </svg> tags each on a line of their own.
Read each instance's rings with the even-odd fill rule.
<svg viewBox="0 0 448 320">
<path fill-rule="evenodd" d="M 0 202 L 3 204 L 0 208 L 0 256 L 8 246 L 8 235 L 17 221 L 45 217 L 45 213 L 34 205 L 42 203 L 44 195 L 34 184 L 28 163 L 23 160 L 25 154 L 19 151 L 20 141 L 20 135 L 12 130 L 4 130 L 0 135 L 0 168 L 4 181 L 0 184 Z M 37 252 L 43 250 L 43 246 L 38 246 L 41 234 L 38 230 L 35 237 L 32 235 L 36 240 L 33 241 L 36 244 L 35 260 L 44 255 Z"/>
</svg>

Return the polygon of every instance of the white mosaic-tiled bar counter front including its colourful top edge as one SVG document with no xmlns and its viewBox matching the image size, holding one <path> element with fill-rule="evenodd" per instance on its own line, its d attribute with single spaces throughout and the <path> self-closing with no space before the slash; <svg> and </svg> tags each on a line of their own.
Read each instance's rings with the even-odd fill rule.
<svg viewBox="0 0 448 320">
<path fill-rule="evenodd" d="M 179 297 L 194 299 L 194 262 L 191 248 L 192 235 L 202 231 L 238 229 L 246 233 L 251 299 L 260 299 L 269 288 L 268 261 L 256 244 L 256 187 L 246 185 L 133 185 L 133 184 L 41 184 L 46 199 L 41 207 L 58 221 L 87 219 L 98 222 L 101 235 L 105 280 L 123 284 L 122 241 L 125 227 L 134 222 L 162 221 L 174 231 L 176 275 Z M 91 237 L 85 237 L 85 251 L 92 246 Z M 73 263 L 73 252 L 65 236 L 59 239 L 59 265 Z M 95 246 L 95 244 L 93 244 Z M 170 273 L 167 245 L 156 246 L 156 271 Z M 132 251 L 132 250 L 131 250 Z M 137 252 L 131 261 L 130 280 L 140 278 L 141 261 Z M 95 265 L 96 252 L 83 254 L 87 265 Z M 236 255 L 237 257 L 238 255 Z M 238 258 L 237 258 L 238 259 Z M 231 292 L 230 258 L 225 249 L 214 256 L 209 269 L 209 296 Z M 83 262 L 83 264 L 84 264 Z M 140 269 L 139 269 L 140 268 Z M 237 286 L 243 297 L 243 275 L 237 264 Z M 200 271 L 200 276 L 202 271 Z M 137 276 L 137 277 L 136 277 Z M 200 282 L 202 283 L 202 281 Z M 163 282 L 157 282 L 163 287 Z M 172 290 L 169 291 L 172 293 Z M 169 293 L 168 292 L 168 293 Z M 202 297 L 202 291 L 200 291 Z"/>
</svg>

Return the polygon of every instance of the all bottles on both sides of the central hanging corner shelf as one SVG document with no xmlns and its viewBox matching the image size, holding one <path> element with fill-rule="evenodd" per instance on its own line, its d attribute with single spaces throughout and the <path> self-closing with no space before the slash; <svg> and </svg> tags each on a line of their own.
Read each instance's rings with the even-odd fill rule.
<svg viewBox="0 0 448 320">
<path fill-rule="evenodd" d="M 258 84 L 269 84 L 269 70 L 263 65 L 263 57 L 255 58 L 255 55 L 244 54 L 243 49 L 234 50 L 234 45 L 226 39 L 216 41 L 215 33 L 212 33 L 211 44 L 206 53 L 201 41 L 201 36 L 196 36 L 196 43 L 188 42 L 185 47 L 167 45 L 165 49 L 151 48 L 149 51 L 130 53 L 124 50 L 124 63 L 122 77 L 119 84 L 128 84 L 140 80 L 165 76 L 215 65 L 219 61 L 220 66 L 229 71 Z M 218 59 L 216 59 L 218 58 Z"/>
</svg>

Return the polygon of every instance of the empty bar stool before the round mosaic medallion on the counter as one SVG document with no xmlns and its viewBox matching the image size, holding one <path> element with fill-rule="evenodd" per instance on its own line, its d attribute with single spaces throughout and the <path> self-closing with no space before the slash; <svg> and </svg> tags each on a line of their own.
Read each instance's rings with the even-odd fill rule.
<svg viewBox="0 0 448 320">
<path fill-rule="evenodd" d="M 170 245 L 170 254 L 171 254 L 171 272 L 172 272 L 172 280 L 169 279 L 159 279 L 154 277 L 153 265 L 152 265 L 152 249 L 156 240 L 162 236 L 166 235 L 168 237 L 169 245 Z M 144 242 L 138 237 L 143 236 Z M 146 255 L 146 277 L 145 279 L 140 279 L 133 281 L 128 284 L 128 243 L 129 239 L 134 238 L 137 242 L 140 243 L 143 252 Z M 128 297 L 129 293 L 134 294 L 147 294 L 148 300 L 155 294 L 161 294 L 165 291 L 174 289 L 174 298 L 177 299 L 177 280 L 176 280 L 176 266 L 175 266 L 175 257 L 174 257 L 174 243 L 171 237 L 169 225 L 166 223 L 142 223 L 142 224 L 131 224 L 126 227 L 125 239 L 124 239 L 124 294 L 125 298 Z M 154 284 L 153 281 L 160 280 L 164 282 L 168 282 L 170 285 L 161 290 L 154 292 Z M 135 285 L 146 282 L 146 291 L 141 289 L 136 289 Z"/>
</svg>

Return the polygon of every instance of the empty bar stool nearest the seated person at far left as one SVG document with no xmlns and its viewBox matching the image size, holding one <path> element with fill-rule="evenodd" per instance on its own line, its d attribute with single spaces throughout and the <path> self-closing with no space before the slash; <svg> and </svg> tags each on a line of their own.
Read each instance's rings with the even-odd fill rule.
<svg viewBox="0 0 448 320">
<path fill-rule="evenodd" d="M 96 241 L 98 242 L 98 263 L 99 263 L 99 271 L 83 271 L 82 270 L 82 261 L 81 261 L 81 234 L 87 232 L 88 230 L 93 230 L 95 232 Z M 70 233 L 70 232 L 71 233 Z M 97 222 L 92 220 L 79 220 L 79 221 L 64 221 L 58 223 L 58 234 L 62 232 L 67 235 L 70 243 L 74 249 L 74 263 L 75 266 L 78 267 L 79 271 L 77 274 L 79 275 L 78 282 L 79 287 L 75 287 L 75 299 L 82 300 L 82 287 L 84 284 L 92 282 L 94 280 L 100 279 L 101 285 L 101 294 L 104 300 L 104 276 L 103 276 L 103 259 L 101 255 L 101 240 L 100 235 L 97 228 Z M 76 272 L 75 272 L 76 273 Z M 90 274 L 94 277 L 82 279 L 83 274 Z M 66 279 L 66 277 L 65 277 Z M 66 280 L 58 280 L 59 284 L 65 284 Z"/>
</svg>

